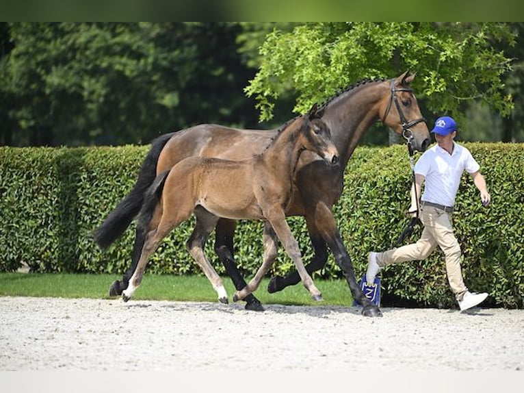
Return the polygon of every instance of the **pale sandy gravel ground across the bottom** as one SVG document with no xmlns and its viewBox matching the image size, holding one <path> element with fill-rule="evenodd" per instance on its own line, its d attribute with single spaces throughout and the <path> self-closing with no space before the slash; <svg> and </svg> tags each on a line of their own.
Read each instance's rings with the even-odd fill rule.
<svg viewBox="0 0 524 393">
<path fill-rule="evenodd" d="M 0 371 L 522 370 L 524 310 L 0 297 Z"/>
</svg>

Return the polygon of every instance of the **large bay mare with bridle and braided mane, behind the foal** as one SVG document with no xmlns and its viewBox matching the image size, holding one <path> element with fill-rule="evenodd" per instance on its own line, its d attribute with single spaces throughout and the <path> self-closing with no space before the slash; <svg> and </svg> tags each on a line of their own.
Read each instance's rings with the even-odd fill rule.
<svg viewBox="0 0 524 393">
<path fill-rule="evenodd" d="M 322 120 L 330 128 L 333 142 L 340 154 L 339 167 L 327 167 L 317 155 L 304 152 L 293 178 L 293 197 L 287 216 L 304 216 L 315 255 L 306 265 L 311 274 L 322 268 L 328 259 L 328 248 L 335 257 L 348 282 L 353 299 L 363 305 L 364 316 L 380 316 L 380 309 L 365 297 L 356 282 L 353 264 L 345 249 L 332 206 L 343 189 L 343 173 L 363 134 L 377 120 L 409 139 L 414 151 L 424 151 L 430 144 L 428 126 L 410 88 L 415 75 L 409 72 L 393 79 L 361 81 L 339 92 L 326 102 Z M 202 124 L 163 135 L 153 141 L 138 175 L 137 182 L 127 196 L 118 203 L 95 231 L 95 240 L 101 249 L 107 248 L 129 227 L 144 203 L 145 190 L 156 175 L 171 168 L 186 157 L 220 157 L 244 160 L 261 153 L 277 129 L 233 129 L 221 125 Z M 380 168 L 377 168 L 380 170 Z M 215 251 L 235 288 L 241 290 L 246 281 L 241 276 L 233 257 L 235 220 L 220 218 L 215 228 Z M 136 240 L 135 240 L 136 242 Z M 135 249 L 141 247 L 135 244 Z M 120 281 L 114 281 L 109 294 L 122 294 L 135 271 L 132 264 Z M 277 292 L 300 281 L 298 272 L 286 277 L 274 277 L 268 290 Z M 247 309 L 263 309 L 252 294 L 246 296 Z"/>
</svg>

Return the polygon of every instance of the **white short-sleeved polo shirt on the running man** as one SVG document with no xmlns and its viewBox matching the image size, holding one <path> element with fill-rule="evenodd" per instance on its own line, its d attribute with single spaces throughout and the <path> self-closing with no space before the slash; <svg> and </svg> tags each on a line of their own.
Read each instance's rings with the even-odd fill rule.
<svg viewBox="0 0 524 393">
<path fill-rule="evenodd" d="M 422 201 L 452 207 L 464 170 L 475 173 L 480 169 L 468 149 L 456 142 L 453 144 L 451 154 L 435 144 L 415 164 L 415 173 L 425 177 Z"/>
</svg>

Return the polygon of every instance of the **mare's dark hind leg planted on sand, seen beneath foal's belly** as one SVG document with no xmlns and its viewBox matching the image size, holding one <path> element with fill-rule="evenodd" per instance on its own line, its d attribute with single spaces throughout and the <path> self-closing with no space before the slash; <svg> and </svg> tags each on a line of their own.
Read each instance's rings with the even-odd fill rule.
<svg viewBox="0 0 524 393">
<path fill-rule="evenodd" d="M 235 258 L 233 257 L 233 234 L 235 233 L 235 220 L 229 220 L 228 218 L 220 218 L 215 228 L 215 253 L 217 253 L 220 261 L 226 268 L 227 275 L 233 281 L 235 289 L 237 291 L 246 287 L 246 281 L 240 274 Z M 246 302 L 246 309 L 252 311 L 264 311 L 264 307 L 253 294 L 242 299 Z"/>
</svg>

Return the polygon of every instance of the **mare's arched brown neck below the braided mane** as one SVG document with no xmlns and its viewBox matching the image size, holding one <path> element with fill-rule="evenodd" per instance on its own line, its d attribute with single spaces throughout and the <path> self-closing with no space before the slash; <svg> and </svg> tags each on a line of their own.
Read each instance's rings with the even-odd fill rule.
<svg viewBox="0 0 524 393">
<path fill-rule="evenodd" d="M 357 86 L 326 106 L 322 120 L 331 129 L 332 140 L 337 147 L 341 164 L 348 164 L 365 131 L 377 120 L 378 102 L 384 97 L 378 82 Z"/>
</svg>

